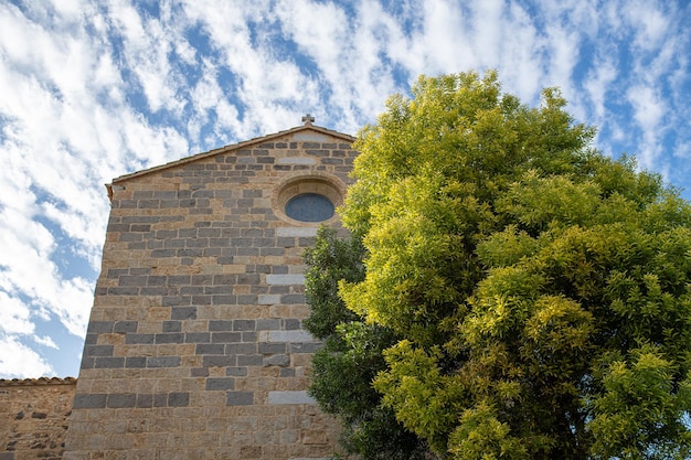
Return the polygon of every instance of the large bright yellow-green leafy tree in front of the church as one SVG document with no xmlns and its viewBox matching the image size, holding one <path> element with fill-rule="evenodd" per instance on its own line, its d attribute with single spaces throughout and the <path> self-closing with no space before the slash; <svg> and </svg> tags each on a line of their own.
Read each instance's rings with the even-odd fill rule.
<svg viewBox="0 0 691 460">
<path fill-rule="evenodd" d="M 359 135 L 330 356 L 440 459 L 691 457 L 691 206 L 565 105 L 421 77 Z"/>
</svg>

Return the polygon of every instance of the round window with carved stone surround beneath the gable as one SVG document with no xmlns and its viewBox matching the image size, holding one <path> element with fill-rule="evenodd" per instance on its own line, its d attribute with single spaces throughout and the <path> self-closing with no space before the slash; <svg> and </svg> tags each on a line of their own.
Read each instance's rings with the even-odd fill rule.
<svg viewBox="0 0 691 460">
<path fill-rule="evenodd" d="M 346 185 L 326 173 L 300 174 L 278 185 L 272 197 L 276 215 L 293 225 L 312 226 L 337 218 Z"/>
</svg>

